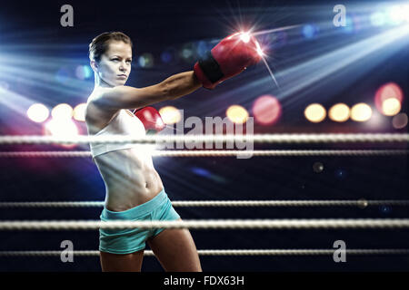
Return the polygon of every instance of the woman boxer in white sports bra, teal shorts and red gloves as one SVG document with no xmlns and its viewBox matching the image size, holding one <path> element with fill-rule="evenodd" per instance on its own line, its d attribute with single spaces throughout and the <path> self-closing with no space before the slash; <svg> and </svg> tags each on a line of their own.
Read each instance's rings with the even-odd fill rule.
<svg viewBox="0 0 409 290">
<path fill-rule="evenodd" d="M 89 135 L 144 137 L 148 129 L 142 110 L 174 100 L 201 86 L 212 89 L 225 79 L 260 61 L 254 38 L 239 34 L 225 38 L 195 64 L 195 70 L 177 73 L 145 88 L 125 86 L 131 73 L 132 41 L 120 32 L 104 33 L 89 44 L 95 89 L 87 101 L 85 121 Z M 136 109 L 137 118 L 129 109 Z M 167 197 L 152 157 L 135 143 L 91 143 L 95 164 L 105 181 L 105 207 L 101 220 L 180 220 Z M 202 271 L 195 242 L 188 229 L 100 229 L 100 259 L 103 271 L 140 271 L 145 243 L 165 271 Z"/>
</svg>

